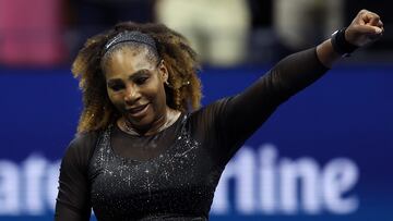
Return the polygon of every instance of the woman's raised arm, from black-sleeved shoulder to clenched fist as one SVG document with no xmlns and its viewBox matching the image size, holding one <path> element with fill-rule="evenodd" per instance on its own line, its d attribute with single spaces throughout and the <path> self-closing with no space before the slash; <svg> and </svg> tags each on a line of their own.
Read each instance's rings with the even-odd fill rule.
<svg viewBox="0 0 393 221">
<path fill-rule="evenodd" d="M 362 47 L 383 33 L 376 13 L 361 10 L 347 28 L 319 46 L 290 54 L 239 95 L 217 102 L 217 130 L 226 163 L 241 144 L 274 110 L 293 95 L 321 77 L 346 53 Z"/>
</svg>

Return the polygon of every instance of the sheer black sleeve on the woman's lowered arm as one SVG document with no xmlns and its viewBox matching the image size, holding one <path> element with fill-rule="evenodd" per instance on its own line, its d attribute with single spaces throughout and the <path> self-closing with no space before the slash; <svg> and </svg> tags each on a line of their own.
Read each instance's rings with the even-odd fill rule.
<svg viewBox="0 0 393 221">
<path fill-rule="evenodd" d="M 56 221 L 86 221 L 91 217 L 88 159 L 96 136 L 81 135 L 73 139 L 61 161 Z"/>
</svg>

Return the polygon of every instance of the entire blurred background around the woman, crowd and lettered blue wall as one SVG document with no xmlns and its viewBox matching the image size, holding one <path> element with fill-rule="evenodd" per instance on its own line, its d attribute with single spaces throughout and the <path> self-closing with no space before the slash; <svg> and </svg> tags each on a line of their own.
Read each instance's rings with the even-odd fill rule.
<svg viewBox="0 0 393 221">
<path fill-rule="evenodd" d="M 178 30 L 200 54 L 206 105 L 361 9 L 380 14 L 383 38 L 247 142 L 211 220 L 393 220 L 393 11 L 366 0 L 0 0 L 0 220 L 52 220 L 59 162 L 82 109 L 70 66 L 88 37 L 122 21 Z"/>
</svg>

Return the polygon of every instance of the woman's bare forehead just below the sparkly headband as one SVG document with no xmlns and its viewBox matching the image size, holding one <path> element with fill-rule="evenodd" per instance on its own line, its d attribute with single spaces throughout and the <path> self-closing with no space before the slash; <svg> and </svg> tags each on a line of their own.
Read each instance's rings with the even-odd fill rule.
<svg viewBox="0 0 393 221">
<path fill-rule="evenodd" d="M 110 52 L 106 58 L 104 73 L 107 78 L 127 77 L 141 70 L 153 70 L 154 64 L 148 59 L 145 47 L 122 47 Z"/>
</svg>

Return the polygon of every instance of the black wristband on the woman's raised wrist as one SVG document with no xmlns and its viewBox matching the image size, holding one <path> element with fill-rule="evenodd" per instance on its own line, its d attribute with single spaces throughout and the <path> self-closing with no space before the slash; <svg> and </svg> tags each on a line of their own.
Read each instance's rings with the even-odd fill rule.
<svg viewBox="0 0 393 221">
<path fill-rule="evenodd" d="M 332 34 L 332 46 L 335 52 L 342 54 L 343 57 L 349 57 L 359 47 L 352 45 L 345 39 L 346 27 L 343 27 Z"/>
</svg>

